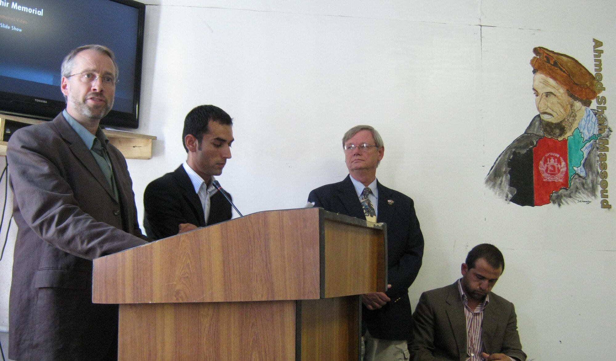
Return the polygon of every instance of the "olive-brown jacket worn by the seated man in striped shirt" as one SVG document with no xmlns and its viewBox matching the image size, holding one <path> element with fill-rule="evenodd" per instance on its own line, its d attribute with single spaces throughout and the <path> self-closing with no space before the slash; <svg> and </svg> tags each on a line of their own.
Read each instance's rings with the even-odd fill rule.
<svg viewBox="0 0 616 361">
<path fill-rule="evenodd" d="M 414 361 L 466 359 L 466 317 L 458 284 L 421 294 L 413 313 L 415 338 L 409 351 Z M 484 309 L 482 341 L 488 354 L 500 353 L 524 361 L 513 303 L 490 292 Z"/>
</svg>

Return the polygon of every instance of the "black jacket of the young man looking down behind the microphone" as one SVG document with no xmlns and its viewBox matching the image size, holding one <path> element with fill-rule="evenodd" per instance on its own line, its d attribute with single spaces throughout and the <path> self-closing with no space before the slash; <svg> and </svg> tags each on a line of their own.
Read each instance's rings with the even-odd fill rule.
<svg viewBox="0 0 616 361">
<path fill-rule="evenodd" d="M 231 197 L 229 193 L 227 195 Z M 231 205 L 221 192 L 214 193 L 209 207 L 206 223 L 201 200 L 180 165 L 174 172 L 156 178 L 145 188 L 145 233 L 153 239 L 161 239 L 177 234 L 180 223 L 205 227 L 231 219 Z"/>
</svg>

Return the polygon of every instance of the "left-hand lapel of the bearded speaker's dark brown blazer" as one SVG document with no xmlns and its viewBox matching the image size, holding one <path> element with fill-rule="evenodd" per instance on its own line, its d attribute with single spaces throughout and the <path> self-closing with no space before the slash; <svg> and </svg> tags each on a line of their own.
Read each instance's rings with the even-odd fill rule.
<svg viewBox="0 0 616 361">
<path fill-rule="evenodd" d="M 92 177 L 94 177 L 100 186 L 105 189 L 111 199 L 115 199 L 113 189 L 111 189 L 111 186 L 109 185 L 107 178 L 105 178 L 103 171 L 100 170 L 99 164 L 94 160 L 94 156 L 92 156 L 90 149 L 87 148 L 86 144 L 81 138 L 79 138 L 79 135 L 70 126 L 70 124 L 68 124 L 62 114 L 55 117 L 52 123 L 58 130 L 60 137 L 67 141 L 68 148 L 71 149 L 71 152 L 75 155 L 79 162 L 84 165 Z"/>
</svg>

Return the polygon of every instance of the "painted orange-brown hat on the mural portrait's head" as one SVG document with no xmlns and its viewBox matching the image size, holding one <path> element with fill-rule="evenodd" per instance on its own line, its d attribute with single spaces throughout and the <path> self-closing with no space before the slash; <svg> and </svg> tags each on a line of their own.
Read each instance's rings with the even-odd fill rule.
<svg viewBox="0 0 616 361">
<path fill-rule="evenodd" d="M 537 55 L 530 59 L 533 69 L 551 77 L 576 97 L 593 100 L 601 93 L 601 90 L 596 90 L 593 74 L 569 55 L 553 52 L 545 47 L 536 47 L 533 53 Z"/>
</svg>

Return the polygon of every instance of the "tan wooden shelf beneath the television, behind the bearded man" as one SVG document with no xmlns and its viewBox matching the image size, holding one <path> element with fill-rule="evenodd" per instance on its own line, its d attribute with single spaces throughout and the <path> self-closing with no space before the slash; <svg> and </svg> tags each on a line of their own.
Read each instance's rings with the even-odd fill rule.
<svg viewBox="0 0 616 361">
<path fill-rule="evenodd" d="M 6 121 L 20 122 L 24 124 L 39 124 L 45 121 L 26 117 L 0 114 L 0 139 L 4 139 L 4 125 Z M 121 130 L 103 129 L 111 144 L 118 148 L 126 159 L 150 159 L 152 158 L 152 141 L 156 140 L 153 135 L 145 135 Z M 0 156 L 6 156 L 7 142 L 0 140 Z"/>
</svg>

